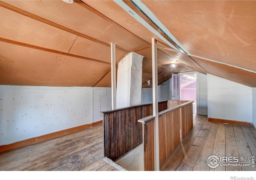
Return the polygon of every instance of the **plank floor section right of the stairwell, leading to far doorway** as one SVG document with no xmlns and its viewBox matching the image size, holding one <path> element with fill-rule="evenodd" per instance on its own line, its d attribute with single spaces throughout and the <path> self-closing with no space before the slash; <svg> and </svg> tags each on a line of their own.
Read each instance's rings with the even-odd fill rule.
<svg viewBox="0 0 256 180">
<path fill-rule="evenodd" d="M 194 128 L 168 158 L 160 170 L 186 171 L 255 171 L 252 166 L 206 164 L 209 156 L 256 156 L 256 130 L 253 127 L 209 122 L 207 116 L 194 115 Z M 248 159 L 247 159 L 248 160 Z M 252 162 L 252 161 L 250 161 Z"/>
</svg>

